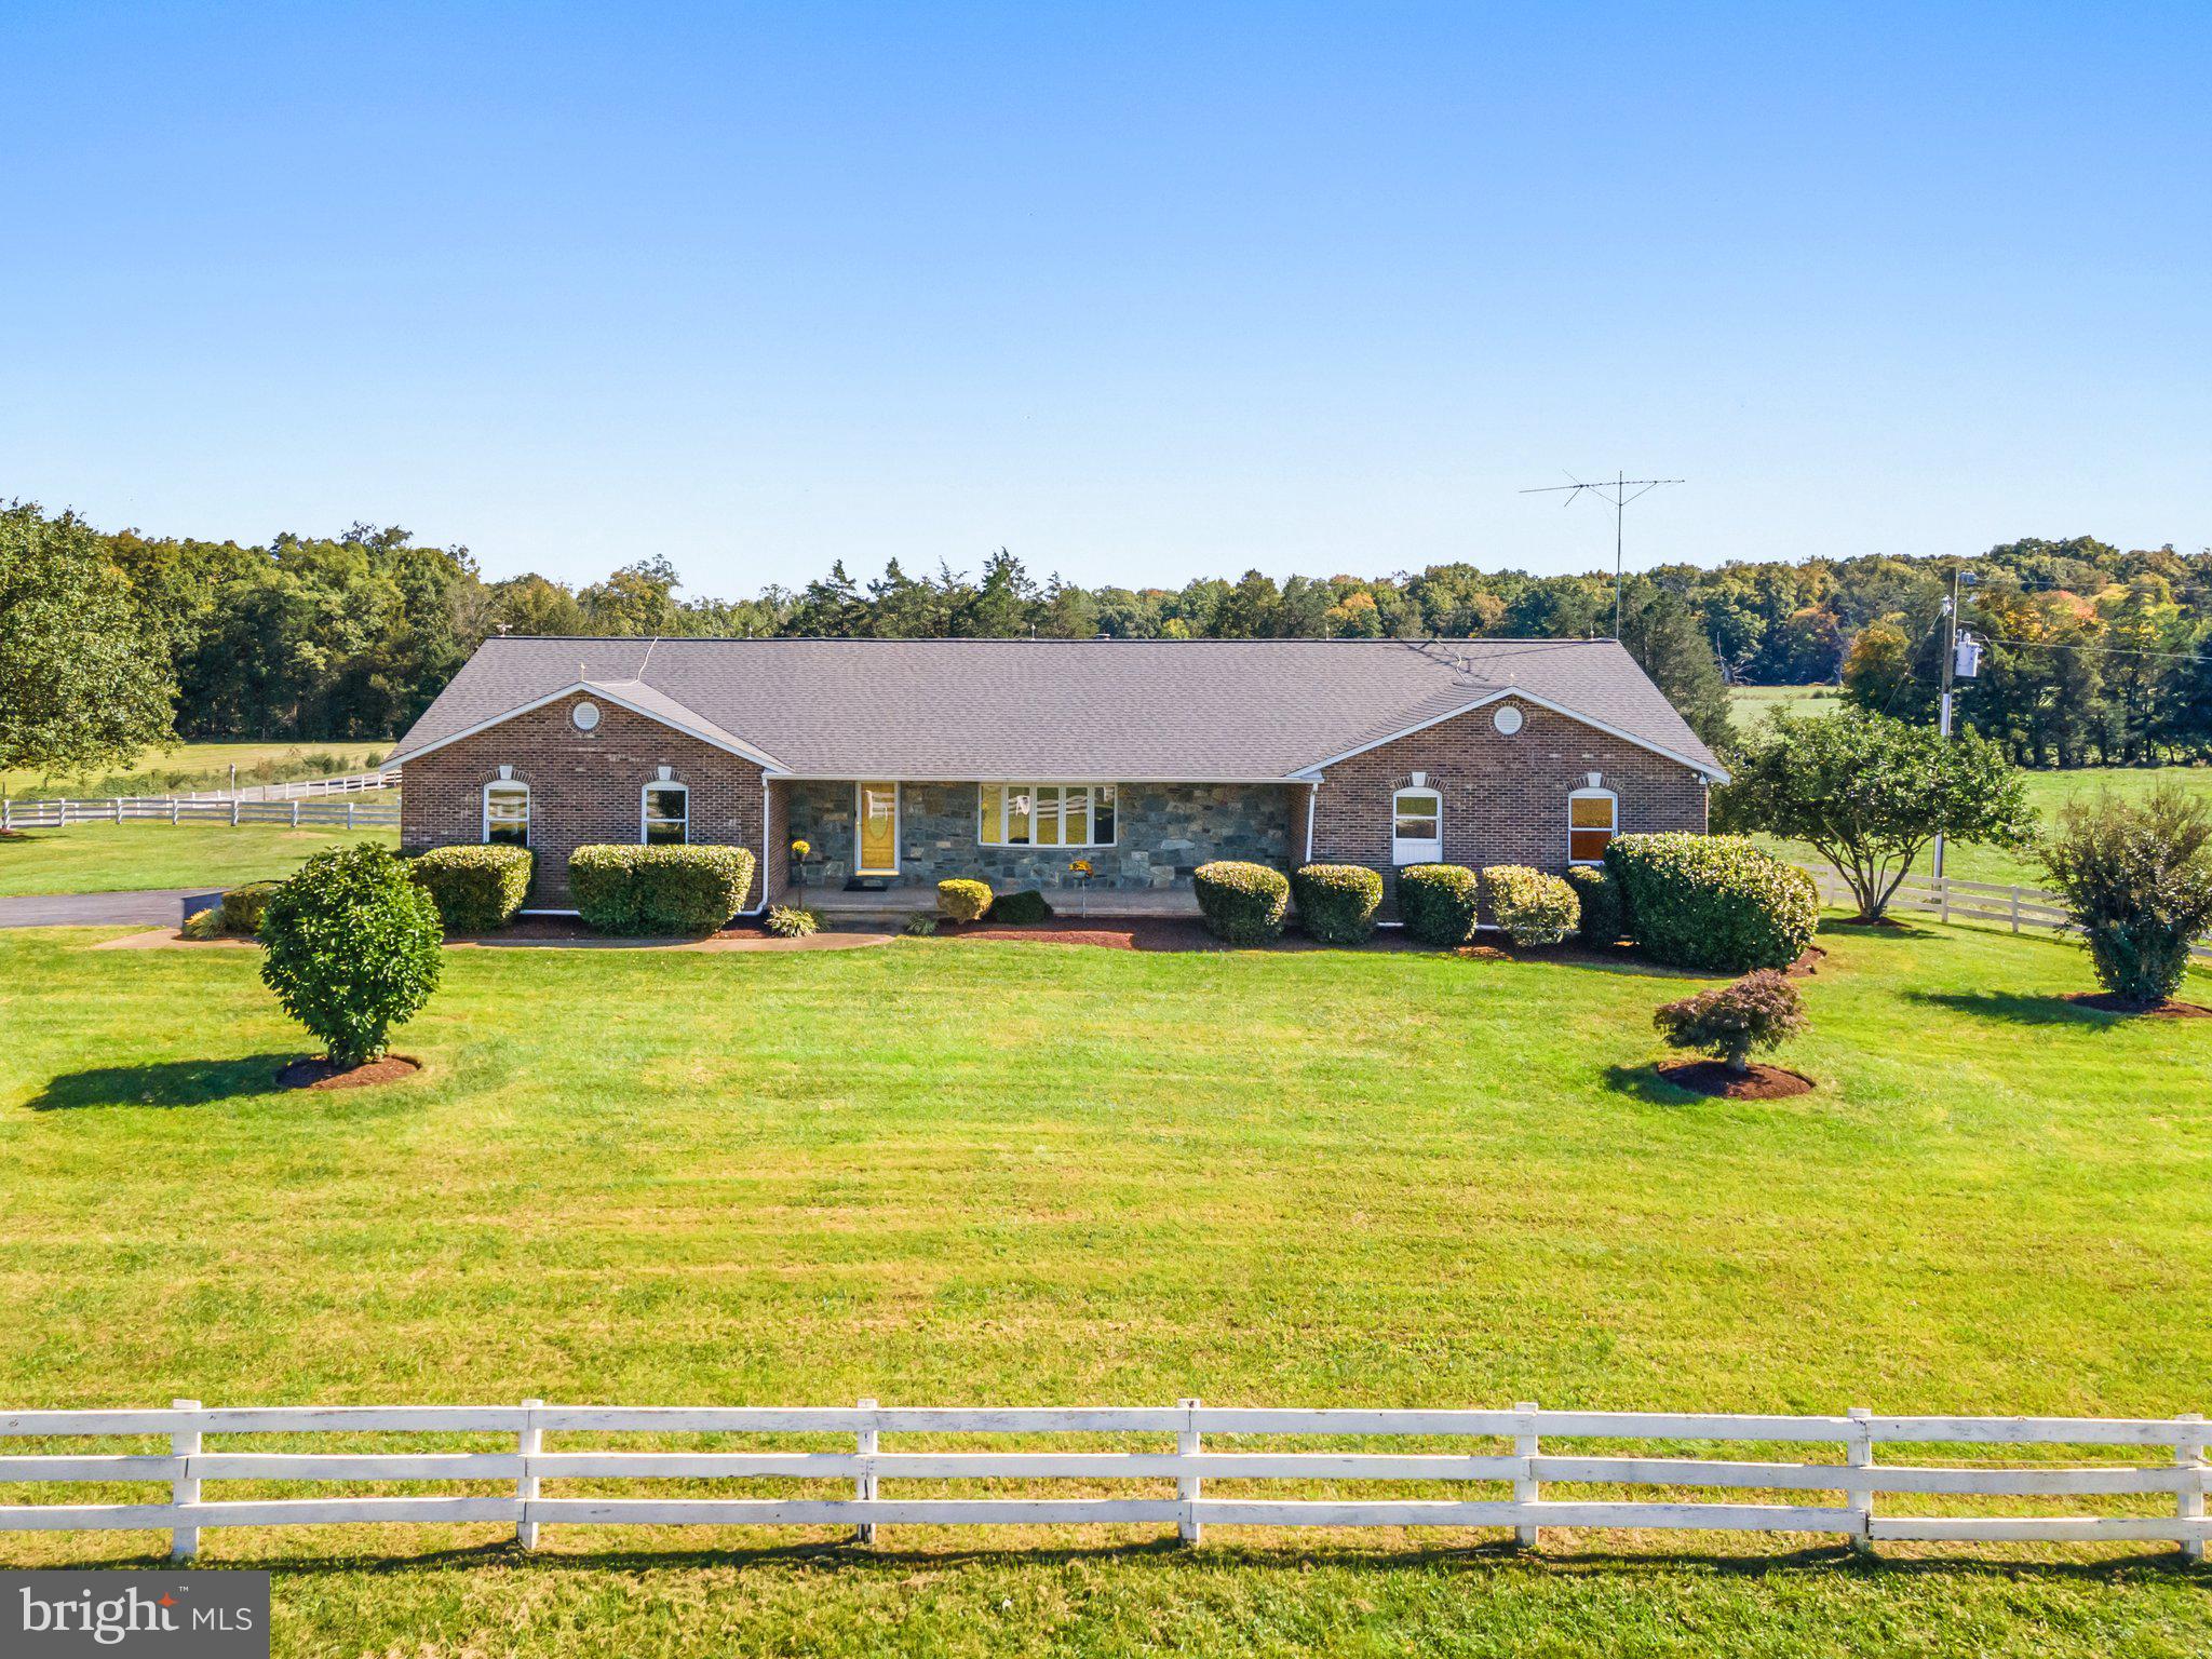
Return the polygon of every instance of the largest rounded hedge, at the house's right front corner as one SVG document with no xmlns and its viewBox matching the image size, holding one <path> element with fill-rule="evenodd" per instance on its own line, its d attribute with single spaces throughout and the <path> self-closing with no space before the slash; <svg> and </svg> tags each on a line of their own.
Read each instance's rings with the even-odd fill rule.
<svg viewBox="0 0 2212 1659">
<path fill-rule="evenodd" d="M 1812 876 L 1743 836 L 1615 836 L 1606 869 L 1621 885 L 1628 933 L 1672 967 L 1785 969 L 1820 920 Z"/>
</svg>

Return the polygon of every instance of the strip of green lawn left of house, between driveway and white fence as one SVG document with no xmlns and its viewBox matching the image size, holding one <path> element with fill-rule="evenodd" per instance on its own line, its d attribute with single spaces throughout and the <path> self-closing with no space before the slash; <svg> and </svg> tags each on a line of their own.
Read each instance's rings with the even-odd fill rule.
<svg viewBox="0 0 2212 1659">
<path fill-rule="evenodd" d="M 374 799 L 385 799 L 383 794 Z M 237 887 L 288 876 L 323 847 L 376 841 L 398 830 L 292 830 L 281 823 L 73 823 L 20 830 L 0 841 L 0 898 L 15 894 L 115 894 L 133 887 Z"/>
</svg>

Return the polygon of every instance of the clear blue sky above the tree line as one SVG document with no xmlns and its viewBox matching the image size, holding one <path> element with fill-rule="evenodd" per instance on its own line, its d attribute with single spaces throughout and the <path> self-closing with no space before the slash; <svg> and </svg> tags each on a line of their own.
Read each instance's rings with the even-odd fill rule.
<svg viewBox="0 0 2212 1659">
<path fill-rule="evenodd" d="M 0 495 L 487 573 L 2212 542 L 2212 7 L 0 0 Z"/>
</svg>

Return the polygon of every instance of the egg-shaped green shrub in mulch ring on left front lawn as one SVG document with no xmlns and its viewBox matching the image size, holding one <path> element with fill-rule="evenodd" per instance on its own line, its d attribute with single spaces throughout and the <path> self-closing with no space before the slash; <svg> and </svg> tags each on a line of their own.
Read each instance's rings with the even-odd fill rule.
<svg viewBox="0 0 2212 1659">
<path fill-rule="evenodd" d="M 334 1066 L 380 1060 L 438 989 L 438 907 L 378 845 L 319 852 L 261 911 L 261 982 Z"/>
</svg>

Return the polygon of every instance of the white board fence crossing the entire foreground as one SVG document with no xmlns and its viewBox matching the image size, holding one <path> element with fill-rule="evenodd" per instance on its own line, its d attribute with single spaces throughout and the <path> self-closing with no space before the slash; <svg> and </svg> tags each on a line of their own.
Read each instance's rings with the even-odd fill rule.
<svg viewBox="0 0 2212 1659">
<path fill-rule="evenodd" d="M 436 1438 L 416 1451 L 272 1451 L 270 1436 Z M 18 1455 L 22 1440 L 166 1438 L 168 1451 Z M 606 1447 L 604 1436 L 624 1436 Z M 637 1449 L 639 1436 L 748 1436 L 845 1442 L 832 1449 Z M 973 1447 L 898 1447 L 982 1438 Z M 1020 1436 L 1135 1436 L 1148 1449 L 989 1449 Z M 1334 1447 L 1285 1440 L 1327 1438 Z M 210 1447 L 210 1440 L 226 1444 Z M 491 1442 L 451 1449 L 458 1440 Z M 599 1447 L 591 1442 L 599 1440 Z M 1254 1440 L 1274 1444 L 1254 1447 Z M 1418 1440 L 1409 1451 L 1343 1449 L 1347 1440 Z M 1223 1444 L 1228 1442 L 1228 1444 Z M 1568 1444 L 1562 1444 L 1568 1442 Z M 1575 1444 L 1597 1442 L 1597 1444 Z M 1763 1460 L 1710 1451 L 1655 1455 L 1621 1442 L 1756 1442 Z M 1787 1455 L 1774 1455 L 1774 1447 Z M 1913 1460 L 1880 1460 L 1909 1447 Z M 1953 1462 L 1927 1460 L 1951 1447 Z M 1955 1449 L 1971 1447 L 1960 1460 Z M 2059 1464 L 2053 1447 L 2095 1447 Z M 2006 1451 L 2006 1462 L 1993 1449 Z M 655 1482 L 776 1482 L 772 1495 L 633 1495 Z M 1902 1418 L 1710 1416 L 1648 1411 L 1365 1411 L 1172 1407 L 602 1407 L 524 1400 L 511 1407 L 239 1407 L 0 1411 L 0 1493 L 18 1486 L 166 1486 L 142 1502 L 7 1502 L 0 1531 L 170 1533 L 188 1557 L 208 1526 L 453 1524 L 513 1526 L 524 1548 L 544 1526 L 836 1526 L 874 1542 L 880 1526 L 1175 1526 L 1197 1544 L 1212 1526 L 1498 1526 L 1537 1544 L 1544 1526 L 1641 1531 L 1827 1533 L 1865 1551 L 1885 1540 L 2163 1542 L 2203 1559 L 2205 1422 L 2179 1418 Z M 438 1495 L 223 1498 L 226 1482 L 467 1484 Z M 1073 1495 L 885 1495 L 914 1482 L 1077 1482 Z M 1228 1482 L 1230 1491 L 1219 1486 Z M 1267 1491 L 1292 1482 L 1292 1491 Z M 1307 1495 L 1314 1484 L 1345 1484 Z M 1495 1495 L 1369 1495 L 1420 1482 Z M 577 1491 L 577 1486 L 619 1491 Z M 792 1484 L 812 1486 L 792 1493 Z M 1099 1493 L 1102 1486 L 1115 1491 Z M 1128 1491 L 1137 1489 L 1137 1491 Z M 1559 1489 L 1566 1489 L 1564 1493 Z M 1652 1495 L 1608 1495 L 1659 1489 Z M 1719 1498 L 1683 1498 L 1699 1489 Z M 1750 1495 L 1750 1500 L 1745 1500 Z M 1924 1500 L 2035 1500 L 2037 1513 L 1916 1513 Z M 2108 1500 L 2084 1504 L 2079 1500 Z M 1816 1502 L 1818 1500 L 1818 1502 Z M 1916 1500 L 1922 1500 L 1916 1504 Z M 2062 1500 L 2062 1502 L 2051 1502 Z M 2064 1502 L 2075 1500 L 2075 1502 Z M 2128 1513 L 2112 1513 L 2124 1509 Z M 2051 1513 L 2057 1511 L 2057 1513 Z"/>
</svg>

